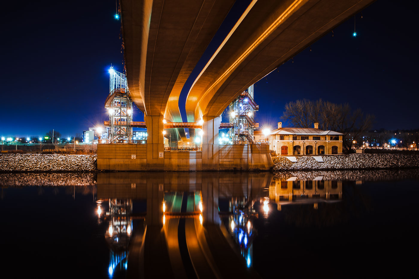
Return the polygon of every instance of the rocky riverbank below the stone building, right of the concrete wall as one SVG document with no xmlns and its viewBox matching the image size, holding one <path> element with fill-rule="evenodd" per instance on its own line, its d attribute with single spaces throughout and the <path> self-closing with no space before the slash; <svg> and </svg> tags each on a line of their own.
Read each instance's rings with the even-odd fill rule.
<svg viewBox="0 0 419 279">
<path fill-rule="evenodd" d="M 288 156 L 272 157 L 274 171 L 315 170 L 360 170 L 380 168 L 419 168 L 418 154 L 350 154 L 321 156 L 318 162 L 314 156 L 296 156 L 292 162 Z"/>
</svg>

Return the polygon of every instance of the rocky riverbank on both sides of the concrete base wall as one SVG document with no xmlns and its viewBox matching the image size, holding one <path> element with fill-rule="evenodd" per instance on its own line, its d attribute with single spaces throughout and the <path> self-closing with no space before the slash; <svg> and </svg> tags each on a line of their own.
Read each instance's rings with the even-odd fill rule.
<svg viewBox="0 0 419 279">
<path fill-rule="evenodd" d="M 330 171 L 419 168 L 419 154 L 350 154 L 296 156 L 292 162 L 287 156 L 272 157 L 273 171 Z M 0 172 L 96 172 L 96 155 L 61 154 L 1 154 Z"/>
</svg>

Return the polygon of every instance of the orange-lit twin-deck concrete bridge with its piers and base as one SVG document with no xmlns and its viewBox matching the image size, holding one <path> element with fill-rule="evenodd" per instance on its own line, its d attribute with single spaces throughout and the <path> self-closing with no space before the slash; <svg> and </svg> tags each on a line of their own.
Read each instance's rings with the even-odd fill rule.
<svg viewBox="0 0 419 279">
<path fill-rule="evenodd" d="M 371 2 L 253 0 L 189 90 L 187 121 L 203 121 L 202 152 L 189 158 L 172 156 L 170 160 L 176 160 L 177 164 L 187 162 L 185 170 L 219 170 L 223 162 L 221 153 L 227 151 L 232 158 L 238 156 L 238 150 L 219 145 L 218 141 L 220 115 L 228 104 Z M 173 163 L 165 163 L 163 121 L 183 122 L 178 104 L 180 92 L 233 3 L 234 0 L 120 1 L 129 92 L 145 114 L 148 134 L 145 163 L 137 163 L 141 168 L 174 169 Z M 171 128 L 167 134 L 186 139 L 184 129 L 179 127 Z M 250 144 L 248 147 L 252 151 L 246 156 L 251 160 L 238 164 L 246 169 L 272 167 L 267 148 L 253 152 L 254 147 Z M 98 146 L 102 151 L 98 152 L 98 167 L 132 169 L 132 162 L 118 160 L 124 159 L 116 158 L 119 155 L 103 155 L 121 150 L 131 155 L 130 148 Z M 131 166 L 124 168 L 124 165 Z"/>
</svg>

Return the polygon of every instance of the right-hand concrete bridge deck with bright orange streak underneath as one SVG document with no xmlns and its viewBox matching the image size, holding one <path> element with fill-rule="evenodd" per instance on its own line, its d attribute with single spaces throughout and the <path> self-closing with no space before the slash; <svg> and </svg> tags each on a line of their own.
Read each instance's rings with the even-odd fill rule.
<svg viewBox="0 0 419 279">
<path fill-rule="evenodd" d="M 219 115 L 248 86 L 373 1 L 253 1 L 195 80 L 188 121 Z"/>
</svg>

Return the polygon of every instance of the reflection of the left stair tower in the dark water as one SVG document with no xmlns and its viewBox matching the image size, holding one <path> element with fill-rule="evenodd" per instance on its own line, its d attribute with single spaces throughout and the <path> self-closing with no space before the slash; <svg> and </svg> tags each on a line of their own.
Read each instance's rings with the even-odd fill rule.
<svg viewBox="0 0 419 279">
<path fill-rule="evenodd" d="M 132 200 L 109 199 L 109 275 L 116 268 L 127 269 L 128 245 L 132 233 Z"/>
</svg>

